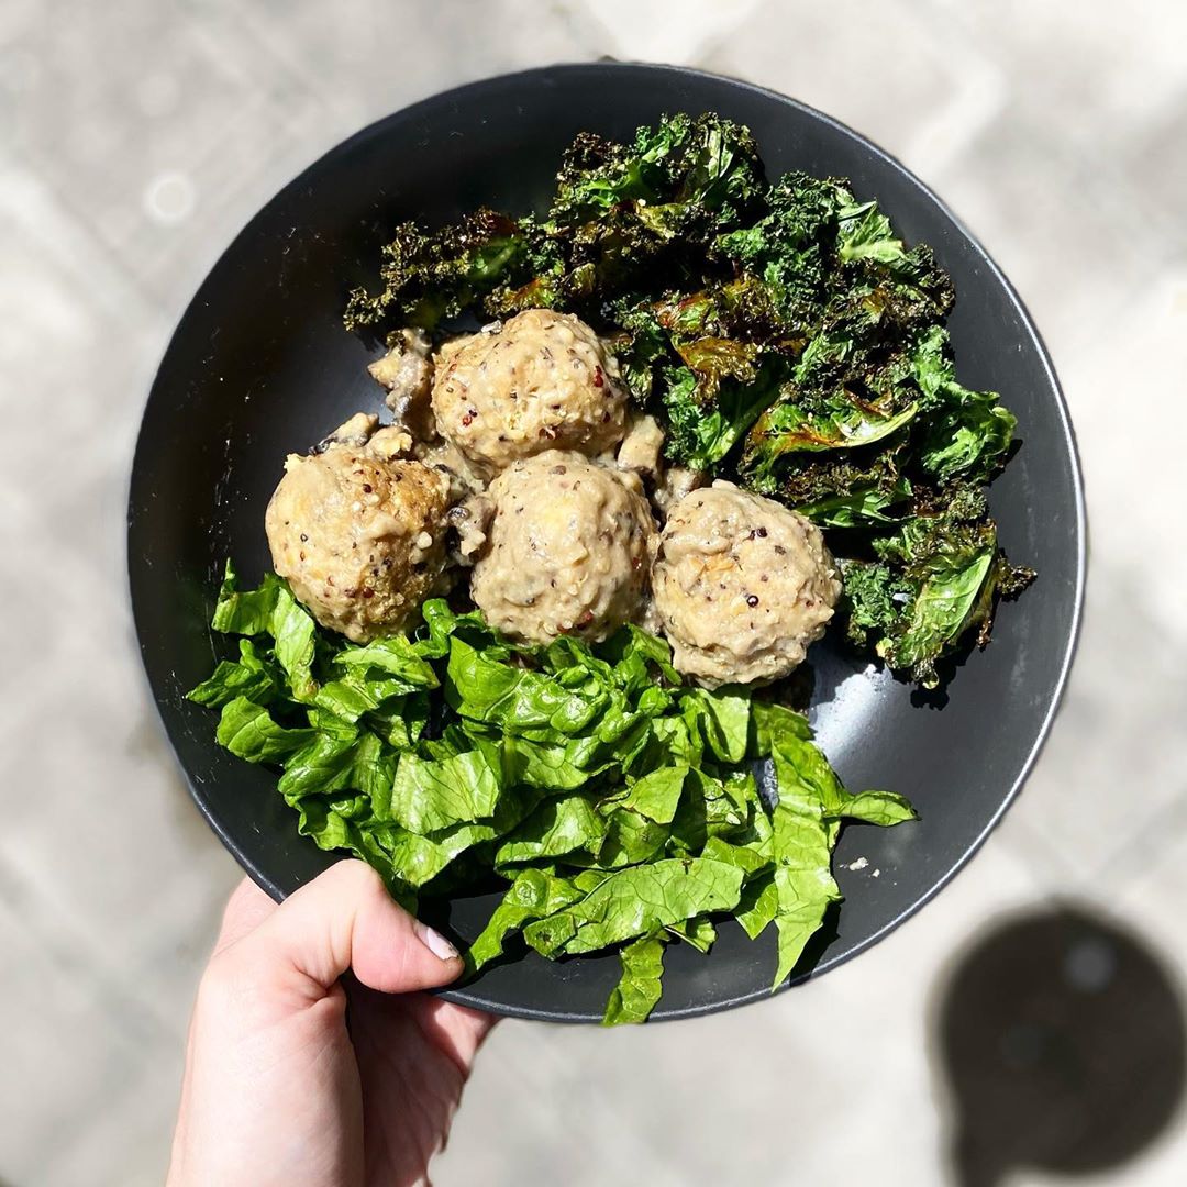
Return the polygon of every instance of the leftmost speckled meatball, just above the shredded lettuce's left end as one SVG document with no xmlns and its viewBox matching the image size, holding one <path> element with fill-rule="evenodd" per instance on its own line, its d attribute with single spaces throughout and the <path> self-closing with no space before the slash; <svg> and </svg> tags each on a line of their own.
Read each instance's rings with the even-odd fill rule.
<svg viewBox="0 0 1187 1187">
<path fill-rule="evenodd" d="M 355 642 L 399 630 L 445 565 L 447 483 L 366 446 L 291 453 L 265 516 L 272 564 L 323 627 Z"/>
</svg>

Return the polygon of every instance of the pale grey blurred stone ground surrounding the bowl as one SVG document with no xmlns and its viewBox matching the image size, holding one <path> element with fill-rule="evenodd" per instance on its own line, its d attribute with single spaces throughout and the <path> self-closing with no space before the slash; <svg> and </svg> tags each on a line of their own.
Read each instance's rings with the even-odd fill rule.
<svg viewBox="0 0 1187 1187">
<path fill-rule="evenodd" d="M 1173 0 L 6 0 L 0 427 L 18 447 L 0 546 L 21 629 L 5 639 L 0 715 L 0 1180 L 160 1181 L 190 998 L 237 877 L 158 736 L 126 607 L 127 468 L 172 325 L 235 230 L 342 137 L 548 61 L 751 78 L 851 122 L 945 195 L 1062 375 L 1092 585 L 1026 795 L 921 916 L 744 1011 L 609 1034 L 502 1024 L 437 1181 L 942 1183 L 951 1102 L 933 1017 L 983 927 L 1074 899 L 1180 978 L 1183 13 Z M 49 605 L 53 629 L 38 629 Z M 1185 1172 L 1180 1112 L 1098 1180 Z"/>
</svg>

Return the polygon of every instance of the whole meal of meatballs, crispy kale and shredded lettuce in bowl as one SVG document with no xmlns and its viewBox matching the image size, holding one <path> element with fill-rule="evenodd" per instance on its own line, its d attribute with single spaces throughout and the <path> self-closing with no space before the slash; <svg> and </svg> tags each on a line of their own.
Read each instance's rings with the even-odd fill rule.
<svg viewBox="0 0 1187 1187">
<path fill-rule="evenodd" d="M 839 629 L 934 685 L 1029 577 L 984 499 L 1014 419 L 956 380 L 952 297 L 872 202 L 768 184 L 713 115 L 578 138 L 546 215 L 399 227 L 347 310 L 386 334 L 394 421 L 331 434 L 317 456 L 375 461 L 319 463 L 284 526 L 329 525 L 337 563 L 374 531 L 347 480 L 420 466 L 432 500 L 374 504 L 408 580 L 379 617 L 328 597 L 328 560 L 228 569 L 240 653 L 191 697 L 411 908 L 503 883 L 472 971 L 611 947 L 605 1020 L 642 1021 L 665 945 L 734 919 L 774 928 L 780 984 L 839 899 L 842 823 L 913 815 L 842 787 L 781 681 Z"/>
</svg>

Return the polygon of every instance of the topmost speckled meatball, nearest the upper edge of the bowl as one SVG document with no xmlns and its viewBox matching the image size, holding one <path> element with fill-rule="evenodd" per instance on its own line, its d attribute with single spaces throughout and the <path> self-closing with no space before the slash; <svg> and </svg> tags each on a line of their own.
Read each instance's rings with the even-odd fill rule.
<svg viewBox="0 0 1187 1187">
<path fill-rule="evenodd" d="M 595 455 L 622 439 L 626 392 L 597 335 L 570 313 L 529 309 L 437 358 L 437 431 L 495 472 L 550 449 Z"/>
</svg>

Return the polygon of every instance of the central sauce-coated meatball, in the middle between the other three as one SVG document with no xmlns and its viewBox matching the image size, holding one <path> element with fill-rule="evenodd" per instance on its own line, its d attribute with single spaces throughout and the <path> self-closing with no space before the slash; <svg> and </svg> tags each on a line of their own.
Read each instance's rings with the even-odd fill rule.
<svg viewBox="0 0 1187 1187">
<path fill-rule="evenodd" d="M 601 640 L 643 614 L 655 527 L 634 475 L 550 450 L 490 484 L 470 596 L 513 639 Z"/>
</svg>

